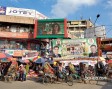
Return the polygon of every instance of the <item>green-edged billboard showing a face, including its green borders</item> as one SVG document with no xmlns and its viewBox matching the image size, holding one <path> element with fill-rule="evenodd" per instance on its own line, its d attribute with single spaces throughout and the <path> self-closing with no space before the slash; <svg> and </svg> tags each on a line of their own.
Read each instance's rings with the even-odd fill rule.
<svg viewBox="0 0 112 89">
<path fill-rule="evenodd" d="M 37 38 L 64 38 L 67 33 L 65 19 L 46 19 L 37 22 Z"/>
</svg>

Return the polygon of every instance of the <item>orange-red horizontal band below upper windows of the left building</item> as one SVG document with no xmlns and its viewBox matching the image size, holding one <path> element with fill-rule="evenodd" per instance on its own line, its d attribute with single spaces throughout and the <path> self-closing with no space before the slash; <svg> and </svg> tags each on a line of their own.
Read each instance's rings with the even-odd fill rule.
<svg viewBox="0 0 112 89">
<path fill-rule="evenodd" d="M 16 33 L 16 32 L 0 32 L 0 37 L 5 38 L 32 38 L 33 35 L 30 33 Z"/>
</svg>

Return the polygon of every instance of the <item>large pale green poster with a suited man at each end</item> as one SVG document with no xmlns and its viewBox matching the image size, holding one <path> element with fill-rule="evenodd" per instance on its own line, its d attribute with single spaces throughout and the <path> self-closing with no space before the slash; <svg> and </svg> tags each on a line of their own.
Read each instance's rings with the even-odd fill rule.
<svg viewBox="0 0 112 89">
<path fill-rule="evenodd" d="M 86 39 L 54 39 L 53 57 L 78 58 L 97 57 L 97 45 L 95 38 Z"/>
</svg>

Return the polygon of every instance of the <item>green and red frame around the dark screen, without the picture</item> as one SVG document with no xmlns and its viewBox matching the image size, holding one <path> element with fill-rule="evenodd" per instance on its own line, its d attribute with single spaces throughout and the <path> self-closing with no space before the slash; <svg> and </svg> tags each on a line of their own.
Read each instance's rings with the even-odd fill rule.
<svg viewBox="0 0 112 89">
<path fill-rule="evenodd" d="M 38 35 L 38 25 L 39 22 L 63 22 L 63 29 L 64 29 L 64 34 L 55 34 L 55 35 L 50 35 L 50 34 L 45 34 L 45 35 Z M 67 20 L 66 19 L 43 19 L 43 20 L 35 20 L 35 27 L 34 27 L 34 38 L 67 38 L 68 37 L 68 32 L 67 32 Z"/>
</svg>

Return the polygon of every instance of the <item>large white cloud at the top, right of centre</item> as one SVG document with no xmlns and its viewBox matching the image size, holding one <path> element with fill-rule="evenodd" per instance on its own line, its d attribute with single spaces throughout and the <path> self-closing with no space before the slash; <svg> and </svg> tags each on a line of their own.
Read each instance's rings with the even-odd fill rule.
<svg viewBox="0 0 112 89">
<path fill-rule="evenodd" d="M 52 6 L 51 14 L 54 17 L 67 17 L 82 6 L 92 6 L 97 2 L 98 0 L 57 0 Z"/>
</svg>

